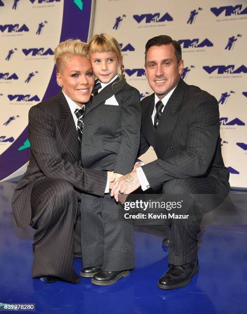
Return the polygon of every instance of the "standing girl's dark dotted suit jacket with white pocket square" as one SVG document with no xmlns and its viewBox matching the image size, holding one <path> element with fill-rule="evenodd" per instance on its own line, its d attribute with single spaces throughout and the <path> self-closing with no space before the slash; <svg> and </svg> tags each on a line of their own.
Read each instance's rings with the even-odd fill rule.
<svg viewBox="0 0 247 314">
<path fill-rule="evenodd" d="M 107 104 L 112 95 L 119 106 Z M 140 142 L 139 91 L 117 78 L 86 105 L 82 134 L 82 164 L 85 168 L 132 171 Z"/>
</svg>

